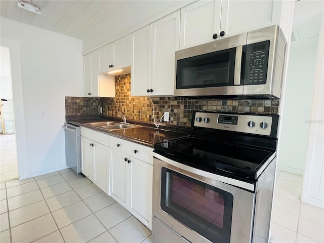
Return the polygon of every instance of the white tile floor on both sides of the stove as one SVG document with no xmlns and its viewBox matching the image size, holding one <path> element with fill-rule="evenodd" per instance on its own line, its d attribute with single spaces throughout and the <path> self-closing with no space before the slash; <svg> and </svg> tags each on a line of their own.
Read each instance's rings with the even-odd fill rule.
<svg viewBox="0 0 324 243">
<path fill-rule="evenodd" d="M 300 201 L 302 177 L 278 171 L 271 242 L 324 242 L 324 211 Z M 151 242 L 151 232 L 70 169 L 0 184 L 0 242 Z"/>
</svg>

